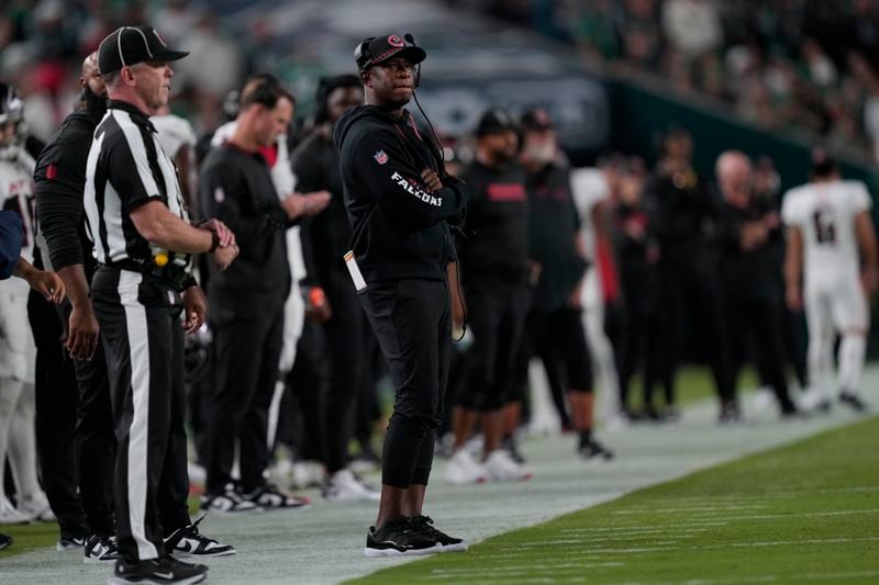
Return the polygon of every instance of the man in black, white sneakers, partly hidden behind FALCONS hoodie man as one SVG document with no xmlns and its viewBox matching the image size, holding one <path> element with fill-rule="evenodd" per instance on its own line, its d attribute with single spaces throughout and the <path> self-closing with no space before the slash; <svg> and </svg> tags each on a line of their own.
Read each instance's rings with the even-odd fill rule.
<svg viewBox="0 0 879 585">
<path fill-rule="evenodd" d="M 322 323 L 326 339 L 329 380 L 322 401 L 321 434 L 326 479 L 323 495 L 331 500 L 378 500 L 379 494 L 348 470 L 348 443 L 353 415 L 365 391 L 365 360 L 369 345 L 366 318 L 343 256 L 351 240 L 345 214 L 338 153 L 330 137 L 333 124 L 348 109 L 363 104 L 360 79 L 342 75 L 327 79 L 319 92 L 315 127 L 292 154 L 293 170 L 301 191 L 327 190 L 332 194 L 325 212 L 303 225 L 303 246 L 312 260 L 309 279 L 324 291 Z M 375 347 L 375 344 L 372 345 Z"/>
</svg>

